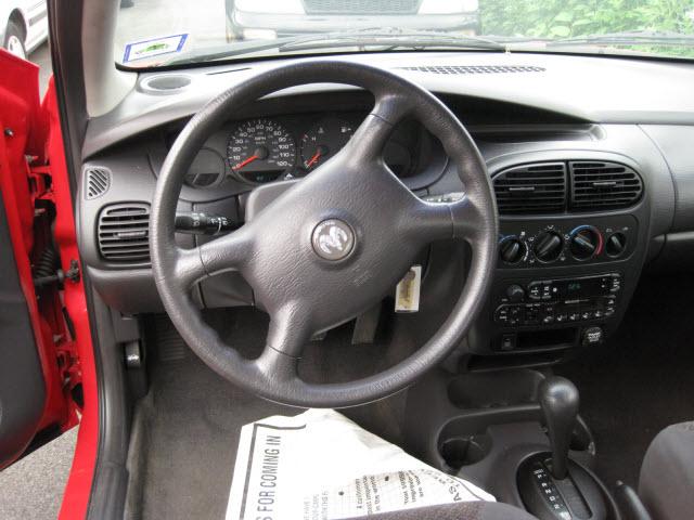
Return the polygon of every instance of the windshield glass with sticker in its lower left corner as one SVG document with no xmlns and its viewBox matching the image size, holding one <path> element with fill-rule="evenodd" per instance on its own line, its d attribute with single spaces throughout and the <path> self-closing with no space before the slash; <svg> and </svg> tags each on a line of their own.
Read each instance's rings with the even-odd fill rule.
<svg viewBox="0 0 694 520">
<path fill-rule="evenodd" d="M 335 52 L 694 57 L 694 0 L 120 0 L 127 67 Z"/>
</svg>

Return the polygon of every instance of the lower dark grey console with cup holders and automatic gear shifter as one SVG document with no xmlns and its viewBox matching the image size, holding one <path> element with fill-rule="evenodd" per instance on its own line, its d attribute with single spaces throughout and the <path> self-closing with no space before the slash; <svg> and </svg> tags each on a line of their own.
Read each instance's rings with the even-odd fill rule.
<svg viewBox="0 0 694 520">
<path fill-rule="evenodd" d="M 534 369 L 434 374 L 409 392 L 407 448 L 540 520 L 620 520 L 579 401 Z"/>
</svg>

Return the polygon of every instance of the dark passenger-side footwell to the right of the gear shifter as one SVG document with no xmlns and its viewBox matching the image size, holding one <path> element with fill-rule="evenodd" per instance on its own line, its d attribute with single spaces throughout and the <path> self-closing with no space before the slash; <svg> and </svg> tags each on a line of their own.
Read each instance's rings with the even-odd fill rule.
<svg viewBox="0 0 694 520">
<path fill-rule="evenodd" d="M 641 460 L 668 425 L 694 418 L 694 304 L 690 276 L 644 277 L 625 322 L 596 355 L 558 367 L 581 394 L 608 486 L 637 485 Z"/>
</svg>

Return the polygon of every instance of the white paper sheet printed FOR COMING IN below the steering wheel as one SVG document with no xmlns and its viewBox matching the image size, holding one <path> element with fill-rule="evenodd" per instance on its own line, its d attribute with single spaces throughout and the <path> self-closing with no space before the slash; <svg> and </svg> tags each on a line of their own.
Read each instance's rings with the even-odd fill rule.
<svg viewBox="0 0 694 520">
<path fill-rule="evenodd" d="M 241 430 L 227 520 L 333 520 L 493 496 L 333 410 Z"/>
</svg>

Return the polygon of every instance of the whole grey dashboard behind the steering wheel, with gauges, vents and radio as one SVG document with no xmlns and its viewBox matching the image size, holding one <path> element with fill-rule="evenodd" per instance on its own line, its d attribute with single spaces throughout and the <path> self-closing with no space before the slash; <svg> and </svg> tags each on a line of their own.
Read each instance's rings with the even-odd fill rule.
<svg viewBox="0 0 694 520">
<path fill-rule="evenodd" d="M 644 269 L 691 265 L 691 65 L 484 53 L 369 60 L 439 96 L 487 162 L 500 213 L 499 258 L 483 316 L 465 340 L 481 367 L 489 359 L 496 365 L 553 363 L 601 344 Z M 272 66 L 144 74 L 132 96 L 90 121 L 77 204 L 80 248 L 94 287 L 114 309 L 162 309 L 149 263 L 149 205 L 179 132 L 216 93 Z M 177 76 L 185 76 L 180 88 Z M 162 77 L 167 91 L 157 92 L 153 84 Z M 243 225 L 257 210 L 248 204 L 254 190 L 265 190 L 269 204 L 312 174 L 348 142 L 372 103 L 358 89 L 316 84 L 230 114 L 185 173 L 179 211 L 223 218 L 230 229 Z M 429 200 L 464 190 L 441 144 L 417 121 L 395 129 L 384 160 Z M 182 246 L 207 239 L 177 234 Z M 423 263 L 423 290 L 429 291 L 423 301 L 444 313 L 465 253 L 437 244 Z M 250 288 L 233 272 L 201 283 L 193 296 L 201 307 L 254 304 Z"/>
</svg>

